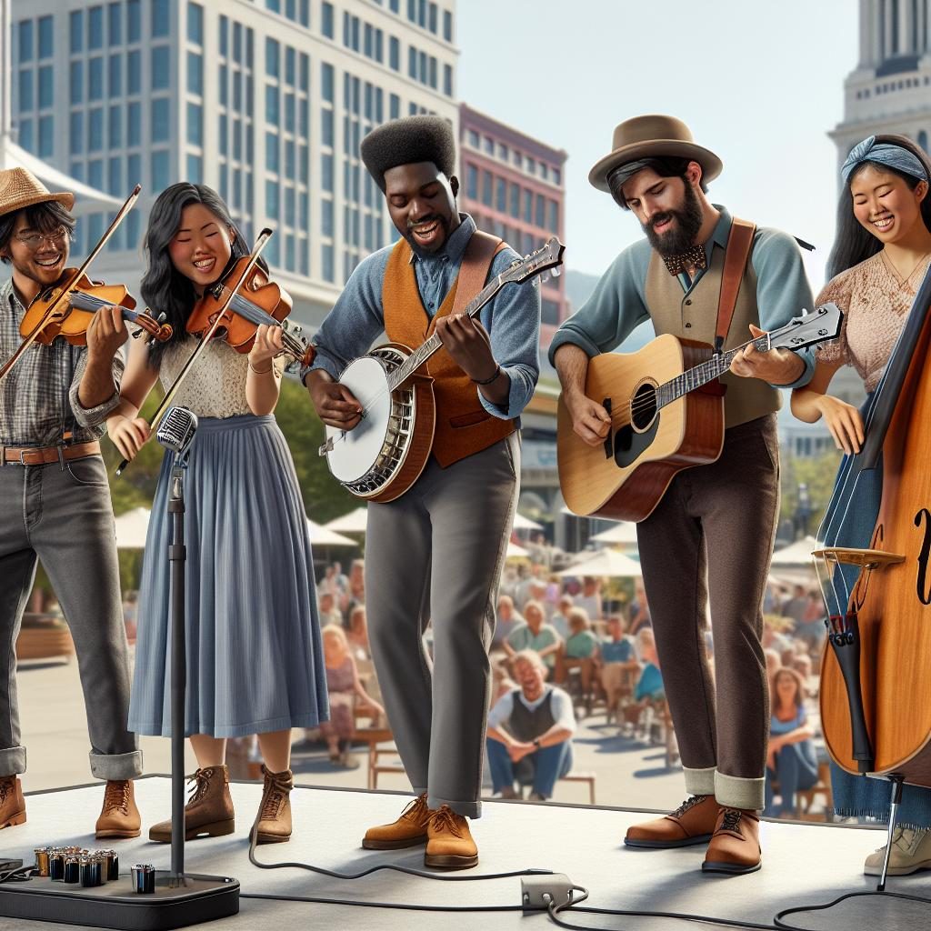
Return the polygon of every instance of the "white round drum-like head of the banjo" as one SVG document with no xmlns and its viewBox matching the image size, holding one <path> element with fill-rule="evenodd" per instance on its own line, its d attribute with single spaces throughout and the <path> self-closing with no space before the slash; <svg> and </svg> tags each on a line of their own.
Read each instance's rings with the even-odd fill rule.
<svg viewBox="0 0 931 931">
<path fill-rule="evenodd" d="M 362 479 L 382 452 L 391 413 L 387 374 L 381 359 L 363 356 L 350 362 L 340 377 L 340 384 L 358 398 L 366 413 L 352 430 L 327 427 L 327 439 L 333 440 L 333 448 L 327 453 L 327 463 L 333 478 L 339 481 Z"/>
</svg>

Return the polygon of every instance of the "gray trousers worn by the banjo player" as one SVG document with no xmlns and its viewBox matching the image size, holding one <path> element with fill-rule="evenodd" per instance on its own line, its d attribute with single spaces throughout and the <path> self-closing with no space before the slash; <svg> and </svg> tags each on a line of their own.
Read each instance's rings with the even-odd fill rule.
<svg viewBox="0 0 931 931">
<path fill-rule="evenodd" d="M 369 640 L 388 722 L 413 790 L 430 808 L 481 815 L 491 694 L 488 651 L 514 522 L 518 434 L 369 506 Z M 433 627 L 433 662 L 424 648 Z"/>
</svg>

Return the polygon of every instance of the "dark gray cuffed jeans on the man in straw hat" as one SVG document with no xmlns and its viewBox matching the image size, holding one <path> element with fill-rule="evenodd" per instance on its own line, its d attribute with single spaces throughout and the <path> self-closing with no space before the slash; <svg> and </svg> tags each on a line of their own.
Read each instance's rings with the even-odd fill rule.
<svg viewBox="0 0 931 931">
<path fill-rule="evenodd" d="M 48 573 L 74 639 L 98 779 L 142 774 L 127 730 L 129 659 L 110 489 L 100 456 L 47 466 L 0 466 L 0 776 L 26 771 L 16 693 L 16 639 L 36 560 Z"/>
</svg>

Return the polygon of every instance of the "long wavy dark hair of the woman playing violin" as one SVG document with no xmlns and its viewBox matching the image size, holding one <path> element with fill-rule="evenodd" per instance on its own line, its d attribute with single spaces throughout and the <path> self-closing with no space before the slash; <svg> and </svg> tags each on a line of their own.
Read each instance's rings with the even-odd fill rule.
<svg viewBox="0 0 931 931">
<path fill-rule="evenodd" d="M 169 253 L 169 243 L 181 224 L 182 210 L 189 204 L 203 204 L 220 223 L 233 230 L 233 255 L 230 264 L 250 253 L 236 223 L 233 223 L 230 217 L 229 209 L 223 203 L 223 198 L 212 188 L 204 184 L 178 182 L 166 188 L 155 199 L 149 214 L 149 226 L 142 241 L 142 248 L 148 256 L 148 267 L 142 277 L 140 290 L 142 300 L 152 314 L 157 317 L 164 313 L 166 322 L 173 330 L 168 342 L 149 344 L 149 364 L 156 369 L 161 363 L 165 348 L 185 337 L 184 325 L 196 303 L 194 286 L 174 267 Z M 267 265 L 262 259 L 259 259 L 258 264 L 267 272 Z M 223 274 L 225 273 L 224 268 Z"/>
</svg>

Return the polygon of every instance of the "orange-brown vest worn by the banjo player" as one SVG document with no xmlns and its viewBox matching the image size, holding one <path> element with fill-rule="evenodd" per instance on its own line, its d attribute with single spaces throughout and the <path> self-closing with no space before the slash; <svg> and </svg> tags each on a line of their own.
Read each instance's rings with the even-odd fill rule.
<svg viewBox="0 0 931 931">
<path fill-rule="evenodd" d="M 473 234 L 466 246 L 459 276 L 431 320 L 417 287 L 411 246 L 406 239 L 398 239 L 398 244 L 388 258 L 385 283 L 382 286 L 382 307 L 388 339 L 411 349 L 423 344 L 433 335 L 439 317 L 461 313 L 466 304 L 479 293 L 488 278 L 494 254 L 504 248 L 505 244 L 500 239 L 478 231 Z M 460 278 L 465 282 L 461 294 L 457 293 Z M 452 361 L 445 349 L 438 349 L 423 368 L 434 379 L 437 427 L 432 452 L 443 468 L 452 466 L 473 452 L 487 449 L 517 428 L 515 421 L 493 417 L 481 406 L 479 389 L 466 372 Z"/>
</svg>

